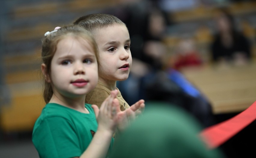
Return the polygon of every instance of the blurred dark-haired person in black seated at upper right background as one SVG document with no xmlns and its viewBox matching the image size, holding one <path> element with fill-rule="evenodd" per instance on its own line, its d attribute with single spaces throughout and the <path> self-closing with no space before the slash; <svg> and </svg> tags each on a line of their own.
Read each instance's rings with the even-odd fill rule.
<svg viewBox="0 0 256 158">
<path fill-rule="evenodd" d="M 235 28 L 234 18 L 225 9 L 215 14 L 217 32 L 211 45 L 213 62 L 234 62 L 236 65 L 251 59 L 249 40 Z"/>
</svg>

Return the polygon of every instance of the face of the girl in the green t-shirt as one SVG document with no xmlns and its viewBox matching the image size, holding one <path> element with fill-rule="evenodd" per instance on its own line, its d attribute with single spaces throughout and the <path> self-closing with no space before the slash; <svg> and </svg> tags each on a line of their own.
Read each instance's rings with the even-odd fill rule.
<svg viewBox="0 0 256 158">
<path fill-rule="evenodd" d="M 89 93 L 98 81 L 93 48 L 82 38 L 66 36 L 57 44 L 48 82 L 57 96 L 76 98 Z"/>
</svg>

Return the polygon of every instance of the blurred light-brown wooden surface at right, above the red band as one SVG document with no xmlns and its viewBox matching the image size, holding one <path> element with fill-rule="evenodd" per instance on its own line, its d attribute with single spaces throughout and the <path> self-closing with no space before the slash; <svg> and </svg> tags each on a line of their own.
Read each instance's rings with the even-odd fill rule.
<svg viewBox="0 0 256 158">
<path fill-rule="evenodd" d="M 256 63 L 182 70 L 212 103 L 215 114 L 241 112 L 256 101 Z"/>
</svg>

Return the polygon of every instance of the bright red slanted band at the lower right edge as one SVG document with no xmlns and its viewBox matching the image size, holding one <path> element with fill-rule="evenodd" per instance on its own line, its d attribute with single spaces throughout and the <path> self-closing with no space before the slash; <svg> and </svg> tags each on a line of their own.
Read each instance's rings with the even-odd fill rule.
<svg viewBox="0 0 256 158">
<path fill-rule="evenodd" d="M 200 136 L 209 148 L 217 148 L 256 119 L 256 102 L 238 115 L 210 126 Z"/>
</svg>

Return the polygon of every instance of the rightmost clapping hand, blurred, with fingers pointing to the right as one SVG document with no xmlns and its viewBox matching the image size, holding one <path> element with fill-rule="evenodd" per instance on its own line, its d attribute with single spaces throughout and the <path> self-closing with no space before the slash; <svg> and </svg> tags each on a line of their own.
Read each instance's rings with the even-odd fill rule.
<svg viewBox="0 0 256 158">
<path fill-rule="evenodd" d="M 144 109 L 145 101 L 143 99 L 139 100 L 125 111 L 121 111 L 120 107 L 117 108 L 117 129 L 123 131 L 136 116 L 144 111 Z"/>
</svg>

